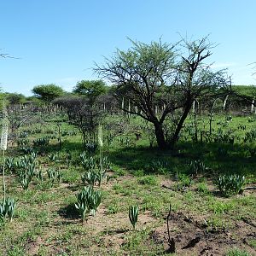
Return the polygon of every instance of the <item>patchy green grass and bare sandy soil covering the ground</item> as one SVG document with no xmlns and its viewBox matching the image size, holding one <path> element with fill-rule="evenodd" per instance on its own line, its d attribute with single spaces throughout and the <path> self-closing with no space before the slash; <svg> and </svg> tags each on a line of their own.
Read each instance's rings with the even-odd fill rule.
<svg viewBox="0 0 256 256">
<path fill-rule="evenodd" d="M 246 131 L 237 128 L 245 123 Z M 29 135 L 29 146 L 36 138 L 55 134 L 54 120 L 49 124 L 46 128 L 24 127 L 24 130 L 38 129 Z M 42 168 L 42 180 L 32 178 L 24 190 L 17 178 L 19 170 L 8 173 L 7 194 L 15 198 L 17 207 L 14 221 L 1 226 L 0 254 L 162 254 L 168 249 L 166 217 L 171 204 L 170 232 L 176 240 L 176 255 L 198 255 L 202 248 L 216 255 L 253 255 L 256 159 L 243 138 L 254 125 L 247 117 L 234 117 L 228 125 L 225 117 L 216 117 L 213 129 L 234 130 L 234 144 L 195 143 L 186 131 L 176 150 L 165 152 L 157 148 L 149 150 L 146 134 L 139 141 L 132 134 L 113 138 L 111 146 L 103 150 L 111 163 L 107 172 L 111 178 L 108 182 L 105 178 L 101 187 L 95 186 L 102 191 L 102 203 L 96 216 L 90 215 L 84 223 L 74 207 L 76 196 L 84 187 L 81 181 L 84 168 L 79 157 L 83 148 L 75 128 L 61 126 L 67 131 L 61 150 L 56 138 L 49 139 L 45 147 L 34 147 L 38 150 L 37 169 Z M 68 135 L 68 131 L 75 132 Z M 253 143 L 249 145 L 253 147 Z M 67 163 L 67 152 L 72 154 L 70 163 Z M 23 155 L 17 147 L 9 148 L 7 154 L 15 159 Z M 205 169 L 192 177 L 189 165 L 195 160 L 201 160 Z M 61 172 L 60 181 L 49 180 L 49 168 Z M 234 172 L 245 175 L 245 189 L 241 195 L 225 197 L 215 185 L 216 178 Z M 128 209 L 135 205 L 139 213 L 133 230 Z M 200 241 L 194 247 L 185 248 L 197 236 Z M 230 249 L 234 246 L 237 249 Z"/>
</svg>

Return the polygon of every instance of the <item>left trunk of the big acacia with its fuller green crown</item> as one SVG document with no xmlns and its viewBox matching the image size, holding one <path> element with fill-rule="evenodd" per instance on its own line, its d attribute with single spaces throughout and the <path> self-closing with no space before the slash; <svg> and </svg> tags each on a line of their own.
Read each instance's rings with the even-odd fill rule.
<svg viewBox="0 0 256 256">
<path fill-rule="evenodd" d="M 157 94 L 163 90 L 166 80 L 172 77 L 174 46 L 161 42 L 131 43 L 131 49 L 118 49 L 105 65 L 96 67 L 96 72 L 115 84 L 115 96 L 119 99 L 129 98 L 131 104 L 138 108 L 138 111 L 135 108 L 124 108 L 124 111 L 137 114 L 154 124 L 157 143 L 160 148 L 166 148 L 162 125 L 167 113 L 173 110 L 173 104 L 166 105 L 160 117 L 155 113 L 155 105 L 159 102 Z"/>
</svg>

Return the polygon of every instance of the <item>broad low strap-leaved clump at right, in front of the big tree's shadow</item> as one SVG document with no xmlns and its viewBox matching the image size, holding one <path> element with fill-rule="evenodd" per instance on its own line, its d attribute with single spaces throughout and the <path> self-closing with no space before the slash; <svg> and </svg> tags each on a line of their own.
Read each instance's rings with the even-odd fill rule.
<svg viewBox="0 0 256 256">
<path fill-rule="evenodd" d="M 216 181 L 217 188 L 225 196 L 241 194 L 245 183 L 245 177 L 238 174 L 220 175 Z"/>
</svg>

